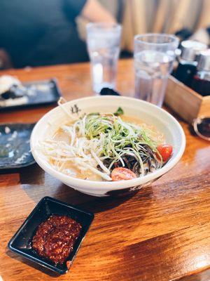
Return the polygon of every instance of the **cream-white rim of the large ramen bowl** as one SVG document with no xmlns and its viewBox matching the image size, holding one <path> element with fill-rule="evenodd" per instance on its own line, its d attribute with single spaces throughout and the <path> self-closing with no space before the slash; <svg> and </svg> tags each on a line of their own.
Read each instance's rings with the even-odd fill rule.
<svg viewBox="0 0 210 281">
<path fill-rule="evenodd" d="M 171 159 L 169 162 L 167 162 L 167 164 L 165 164 L 165 166 L 163 166 L 161 169 L 153 171 L 151 174 L 147 174 L 146 176 L 134 178 L 132 180 L 127 180 L 127 181 L 89 181 L 89 180 L 83 180 L 81 178 L 74 178 L 73 176 L 68 176 L 66 174 L 62 174 L 62 172 L 53 169 L 49 163 L 46 164 L 44 161 L 42 161 L 38 157 L 37 150 L 34 149 L 34 138 L 35 138 L 36 130 L 38 129 L 39 123 L 41 122 L 41 120 L 47 118 L 48 115 L 51 115 L 52 112 L 56 111 L 57 108 L 59 107 L 59 106 L 57 106 L 57 107 L 53 108 L 52 110 L 50 110 L 49 112 L 47 112 L 45 115 L 43 115 L 43 117 L 41 117 L 41 119 L 34 126 L 34 129 L 31 133 L 31 141 L 30 141 L 31 153 L 32 153 L 34 159 L 36 160 L 36 162 L 38 163 L 38 165 L 41 166 L 41 168 L 44 171 L 46 171 L 51 176 L 54 176 L 55 178 L 59 179 L 60 181 L 66 183 L 70 186 L 72 185 L 72 187 L 82 186 L 84 189 L 88 188 L 89 190 L 91 190 L 91 189 L 96 190 L 96 189 L 101 189 L 101 188 L 103 190 L 121 190 L 124 188 L 130 188 L 130 187 L 142 185 L 144 183 L 148 183 L 149 181 L 153 181 L 155 178 L 159 178 L 160 176 L 165 174 L 167 171 L 172 169 L 179 162 L 179 160 L 181 159 L 183 152 L 186 148 L 185 133 L 183 131 L 183 128 L 179 124 L 179 122 L 171 114 L 169 114 L 169 112 L 167 112 L 166 110 L 163 110 L 162 108 L 158 107 L 157 105 L 148 103 L 145 100 L 139 100 L 137 98 L 130 98 L 130 97 L 125 97 L 125 96 L 88 96 L 85 98 L 69 100 L 64 105 L 67 105 L 69 103 L 78 103 L 78 101 L 80 101 L 80 100 L 92 100 L 92 99 L 98 99 L 98 98 L 99 99 L 106 99 L 106 98 L 119 99 L 120 98 L 120 99 L 124 99 L 124 100 L 132 100 L 132 101 L 135 100 L 136 102 L 138 100 L 138 102 L 146 103 L 147 105 L 149 105 L 151 107 L 155 107 L 156 109 L 158 108 L 158 110 L 164 112 L 164 114 L 167 115 L 170 119 L 172 119 L 172 121 L 176 124 L 177 128 L 179 129 L 180 135 L 181 135 L 181 147 L 179 149 L 179 152 L 175 155 L 174 159 Z M 78 188 L 78 189 L 80 189 L 80 188 Z"/>
</svg>

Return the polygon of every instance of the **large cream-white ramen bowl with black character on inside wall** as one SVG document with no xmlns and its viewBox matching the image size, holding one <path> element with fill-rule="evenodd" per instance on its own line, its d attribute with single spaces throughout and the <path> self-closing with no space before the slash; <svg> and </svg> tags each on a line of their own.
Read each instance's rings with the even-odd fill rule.
<svg viewBox="0 0 210 281">
<path fill-rule="evenodd" d="M 45 114 L 34 126 L 31 133 L 31 152 L 34 159 L 41 168 L 51 176 L 59 179 L 62 183 L 69 185 L 75 190 L 94 196 L 116 195 L 118 193 L 134 192 L 152 181 L 160 178 L 163 174 L 173 168 L 179 162 L 186 146 L 186 137 L 179 122 L 172 115 L 160 107 L 135 98 L 119 96 L 91 96 L 71 100 L 62 105 L 64 110 L 69 112 L 72 120 L 78 119 L 84 113 L 90 112 L 116 112 L 118 107 L 122 107 L 124 114 L 130 117 L 137 117 L 147 124 L 155 126 L 158 131 L 165 134 L 166 143 L 173 146 L 173 155 L 169 162 L 161 169 L 151 174 L 134 178 L 129 181 L 89 181 L 80 178 L 73 178 L 55 170 L 49 163 L 45 155 L 38 149 L 38 143 L 52 136 L 59 126 L 71 120 L 61 107 L 55 107 Z"/>
</svg>

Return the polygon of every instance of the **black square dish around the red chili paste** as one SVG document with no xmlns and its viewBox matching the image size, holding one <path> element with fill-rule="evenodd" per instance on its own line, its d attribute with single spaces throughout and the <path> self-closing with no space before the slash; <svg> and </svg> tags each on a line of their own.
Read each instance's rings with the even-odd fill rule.
<svg viewBox="0 0 210 281">
<path fill-rule="evenodd" d="M 82 226 L 80 235 L 76 240 L 76 243 L 73 246 L 73 251 L 71 251 L 71 254 L 68 258 L 68 260 L 72 263 L 78 248 L 80 247 L 80 244 L 92 223 L 94 214 L 82 209 L 78 209 L 59 200 L 55 200 L 51 197 L 43 197 L 43 199 L 38 202 L 34 210 L 31 212 L 31 214 L 29 214 L 17 233 L 15 233 L 10 242 L 8 242 L 8 248 L 17 254 L 25 256 L 25 258 L 40 264 L 41 266 L 45 266 L 45 268 L 49 268 L 50 270 L 53 270 L 59 274 L 64 274 L 68 271 L 66 262 L 55 265 L 55 263 L 52 261 L 48 261 L 47 259 L 38 256 L 36 251 L 31 248 L 31 240 L 36 233 L 36 229 L 52 214 L 69 216 Z"/>
</svg>

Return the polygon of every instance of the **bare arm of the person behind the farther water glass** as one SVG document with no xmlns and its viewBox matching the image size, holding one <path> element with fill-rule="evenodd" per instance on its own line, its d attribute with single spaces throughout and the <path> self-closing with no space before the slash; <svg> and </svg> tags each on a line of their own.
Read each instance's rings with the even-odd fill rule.
<svg viewBox="0 0 210 281">
<path fill-rule="evenodd" d="M 87 0 L 80 15 L 91 22 L 116 22 L 113 15 L 97 0 Z"/>
</svg>

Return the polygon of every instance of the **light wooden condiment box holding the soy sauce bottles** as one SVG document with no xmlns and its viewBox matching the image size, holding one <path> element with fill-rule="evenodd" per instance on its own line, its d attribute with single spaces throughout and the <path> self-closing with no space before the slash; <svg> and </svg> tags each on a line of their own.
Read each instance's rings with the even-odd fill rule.
<svg viewBox="0 0 210 281">
<path fill-rule="evenodd" d="M 165 103 L 190 124 L 197 117 L 210 116 L 210 96 L 201 96 L 172 76 L 167 84 Z"/>
</svg>

